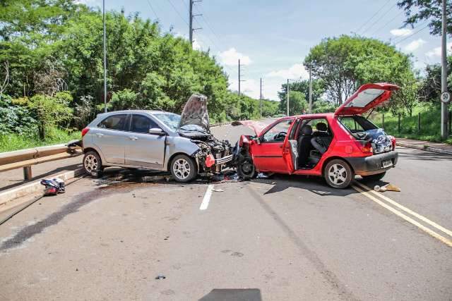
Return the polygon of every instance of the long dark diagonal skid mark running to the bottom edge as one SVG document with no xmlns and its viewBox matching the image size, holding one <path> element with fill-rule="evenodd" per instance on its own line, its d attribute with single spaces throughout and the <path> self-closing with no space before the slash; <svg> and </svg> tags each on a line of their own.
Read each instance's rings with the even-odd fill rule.
<svg viewBox="0 0 452 301">
<path fill-rule="evenodd" d="M 345 300 L 359 300 L 358 297 L 353 295 L 353 293 L 343 284 L 340 282 L 338 276 L 336 276 L 333 271 L 328 270 L 327 266 L 321 261 L 319 256 L 309 249 L 309 247 L 303 242 L 301 238 L 293 231 L 283 219 L 280 218 L 280 216 L 270 207 L 268 206 L 267 202 L 261 197 L 261 195 L 258 194 L 253 188 L 250 187 L 250 185 L 246 185 L 246 189 L 249 191 L 250 195 L 256 199 L 256 201 L 261 205 L 261 207 L 268 213 L 270 216 L 273 217 L 276 223 L 283 228 L 283 231 L 287 233 L 290 240 L 295 243 L 295 245 L 298 247 L 300 252 L 303 254 L 304 257 L 309 259 L 309 262 L 311 262 L 315 269 L 319 271 L 319 273 L 323 276 L 323 278 L 328 281 L 328 283 L 331 285 L 331 287 L 338 292 L 340 297 L 342 297 Z"/>
</svg>

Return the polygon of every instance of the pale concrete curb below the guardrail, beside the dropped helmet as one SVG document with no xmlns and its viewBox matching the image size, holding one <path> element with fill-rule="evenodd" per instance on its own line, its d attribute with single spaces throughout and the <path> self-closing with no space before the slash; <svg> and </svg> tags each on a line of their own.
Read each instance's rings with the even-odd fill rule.
<svg viewBox="0 0 452 301">
<path fill-rule="evenodd" d="M 76 169 L 75 171 L 66 171 L 65 173 L 60 173 L 52 178 L 60 178 L 61 180 L 69 180 L 71 178 L 76 178 L 85 173 L 83 168 Z M 11 188 L 0 192 L 0 206 L 18 197 L 23 197 L 25 195 L 30 195 L 35 192 L 44 191 L 44 186 L 41 185 L 40 180 L 36 180 L 32 183 L 25 185 L 20 185 L 16 188 Z"/>
</svg>

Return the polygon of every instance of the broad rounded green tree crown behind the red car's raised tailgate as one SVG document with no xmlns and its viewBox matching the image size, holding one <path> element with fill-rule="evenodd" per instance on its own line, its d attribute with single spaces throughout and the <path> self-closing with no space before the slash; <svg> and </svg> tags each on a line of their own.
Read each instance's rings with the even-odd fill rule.
<svg viewBox="0 0 452 301">
<path fill-rule="evenodd" d="M 377 39 L 347 36 L 323 39 L 304 59 L 314 77 L 323 80 L 335 106 L 367 82 L 398 83 L 412 73 L 410 57 Z"/>
</svg>

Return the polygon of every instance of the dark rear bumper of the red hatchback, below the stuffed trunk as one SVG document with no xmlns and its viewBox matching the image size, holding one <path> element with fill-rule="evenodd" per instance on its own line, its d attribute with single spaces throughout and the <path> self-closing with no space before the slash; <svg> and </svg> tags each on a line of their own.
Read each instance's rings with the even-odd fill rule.
<svg viewBox="0 0 452 301">
<path fill-rule="evenodd" d="M 377 173 L 383 173 L 393 168 L 397 164 L 398 152 L 391 151 L 383 154 L 374 154 L 372 156 L 348 157 L 345 158 L 352 166 L 353 171 L 359 176 L 370 176 Z M 383 162 L 391 161 L 391 166 L 383 167 Z"/>
</svg>

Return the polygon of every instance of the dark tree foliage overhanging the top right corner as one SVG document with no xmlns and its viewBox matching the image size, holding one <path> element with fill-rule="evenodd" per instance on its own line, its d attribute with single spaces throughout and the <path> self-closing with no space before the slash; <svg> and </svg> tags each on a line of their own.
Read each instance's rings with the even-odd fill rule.
<svg viewBox="0 0 452 301">
<path fill-rule="evenodd" d="M 405 26 L 414 26 L 423 20 L 429 20 L 430 33 L 441 35 L 442 1 L 441 0 L 400 0 L 397 2 L 399 8 L 405 11 Z M 452 37 L 452 1 L 446 1 L 446 32 Z"/>
</svg>

